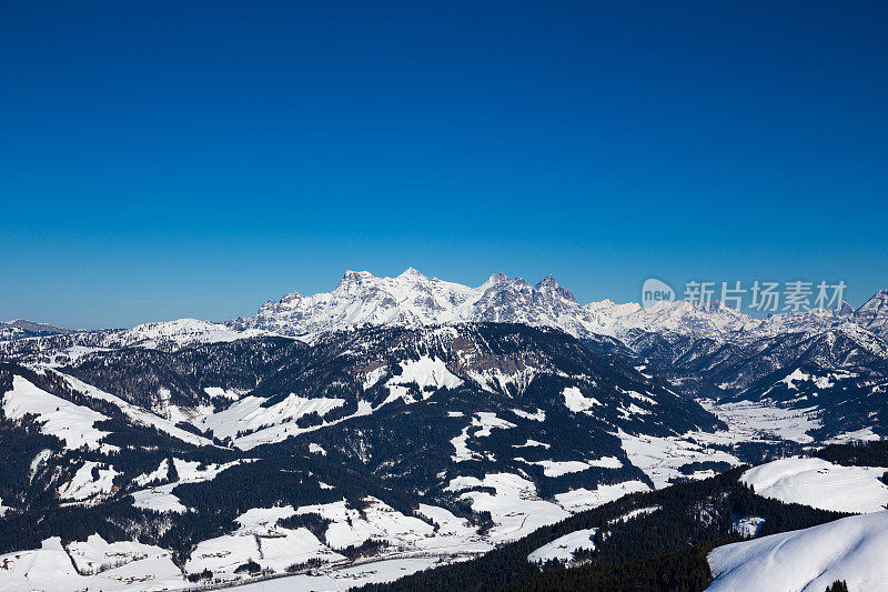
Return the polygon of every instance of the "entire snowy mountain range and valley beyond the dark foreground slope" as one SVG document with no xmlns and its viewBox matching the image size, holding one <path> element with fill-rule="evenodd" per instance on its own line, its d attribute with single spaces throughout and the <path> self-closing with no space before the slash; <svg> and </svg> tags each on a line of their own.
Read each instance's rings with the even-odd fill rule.
<svg viewBox="0 0 888 592">
<path fill-rule="evenodd" d="M 326 589 L 503 545 L 532 575 L 528 541 L 541 561 L 627 552 L 602 539 L 624 514 L 664 552 L 670 524 L 688 541 L 816 525 L 839 514 L 750 498 L 731 468 L 888 434 L 886 302 L 648 312 L 579 304 L 551 275 L 468 288 L 408 269 L 228 322 L 4 323 L 0 585 Z M 716 494 L 736 503 L 706 510 Z M 546 546 L 562 535 L 566 555 Z"/>
</svg>

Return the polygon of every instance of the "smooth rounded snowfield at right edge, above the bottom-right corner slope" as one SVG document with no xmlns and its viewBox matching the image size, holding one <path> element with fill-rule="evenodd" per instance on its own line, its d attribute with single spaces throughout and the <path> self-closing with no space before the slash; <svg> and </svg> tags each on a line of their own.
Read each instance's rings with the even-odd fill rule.
<svg viewBox="0 0 888 592">
<path fill-rule="evenodd" d="M 749 469 L 740 481 L 759 495 L 781 502 L 866 513 L 879 512 L 888 504 L 888 485 L 880 481 L 886 471 L 794 456 Z"/>
</svg>

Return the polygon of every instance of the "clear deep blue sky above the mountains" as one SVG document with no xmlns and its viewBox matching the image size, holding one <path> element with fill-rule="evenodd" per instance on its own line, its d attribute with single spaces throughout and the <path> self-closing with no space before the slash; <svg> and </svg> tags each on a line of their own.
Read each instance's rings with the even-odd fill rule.
<svg viewBox="0 0 888 592">
<path fill-rule="evenodd" d="M 433 6 L 434 4 L 434 6 Z M 0 319 L 346 269 L 888 285 L 885 2 L 0 3 Z"/>
</svg>

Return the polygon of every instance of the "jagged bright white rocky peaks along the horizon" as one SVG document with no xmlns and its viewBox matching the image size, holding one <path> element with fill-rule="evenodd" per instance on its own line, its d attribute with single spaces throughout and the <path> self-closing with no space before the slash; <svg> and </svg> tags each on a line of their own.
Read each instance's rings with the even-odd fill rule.
<svg viewBox="0 0 888 592">
<path fill-rule="evenodd" d="M 291 292 L 263 304 L 254 317 L 231 323 L 235 330 L 260 329 L 284 335 L 313 335 L 364 324 L 417 327 L 456 322 L 513 322 L 558 328 L 574 337 L 630 332 L 672 332 L 695 338 L 748 341 L 787 332 L 818 332 L 856 322 L 875 333 L 888 327 L 888 292 L 876 294 L 858 311 L 814 310 L 756 319 L 720 302 L 673 302 L 654 311 L 636 303 L 610 300 L 581 304 L 574 294 L 547 275 L 529 284 L 503 273 L 477 288 L 426 278 L 411 268 L 396 278 L 347 271 L 332 292 Z"/>
</svg>

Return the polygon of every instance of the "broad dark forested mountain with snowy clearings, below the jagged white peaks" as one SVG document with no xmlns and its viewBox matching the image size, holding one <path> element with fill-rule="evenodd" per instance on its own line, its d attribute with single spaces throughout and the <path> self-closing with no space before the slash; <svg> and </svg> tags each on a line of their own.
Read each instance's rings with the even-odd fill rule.
<svg viewBox="0 0 888 592">
<path fill-rule="evenodd" d="M 525 324 L 3 362 L 0 584 L 44 585 L 31 568 L 65 553 L 93 563 L 64 564 L 71 589 L 343 566 L 355 546 L 426 568 L 737 464 L 685 437 L 725 428 L 646 367 Z"/>
</svg>

